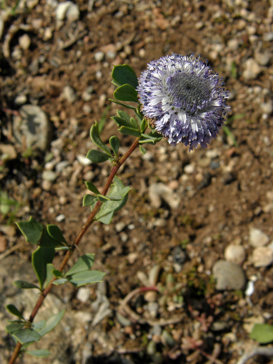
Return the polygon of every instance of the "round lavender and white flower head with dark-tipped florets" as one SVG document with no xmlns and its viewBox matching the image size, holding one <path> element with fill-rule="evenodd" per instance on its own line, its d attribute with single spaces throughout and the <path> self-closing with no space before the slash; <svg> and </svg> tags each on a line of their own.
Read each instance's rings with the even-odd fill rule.
<svg viewBox="0 0 273 364">
<path fill-rule="evenodd" d="M 171 146 L 207 147 L 230 109 L 218 74 L 194 55 L 172 54 L 148 64 L 138 78 L 141 110 Z"/>
</svg>

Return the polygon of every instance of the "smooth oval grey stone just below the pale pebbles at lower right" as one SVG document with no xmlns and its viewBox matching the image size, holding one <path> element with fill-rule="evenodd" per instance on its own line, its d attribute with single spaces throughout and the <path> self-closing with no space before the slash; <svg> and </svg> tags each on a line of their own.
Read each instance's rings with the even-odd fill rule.
<svg viewBox="0 0 273 364">
<path fill-rule="evenodd" d="M 245 286 L 245 272 L 234 263 L 218 260 L 212 267 L 212 273 L 218 290 L 242 289 Z"/>
</svg>

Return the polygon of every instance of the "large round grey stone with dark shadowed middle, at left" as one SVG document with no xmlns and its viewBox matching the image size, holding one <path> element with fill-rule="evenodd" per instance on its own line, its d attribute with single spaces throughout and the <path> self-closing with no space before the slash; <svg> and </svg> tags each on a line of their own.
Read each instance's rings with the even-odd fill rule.
<svg viewBox="0 0 273 364">
<path fill-rule="evenodd" d="M 46 113 L 36 105 L 23 105 L 13 117 L 13 134 L 27 148 L 45 151 L 51 142 L 52 125 Z"/>
</svg>

